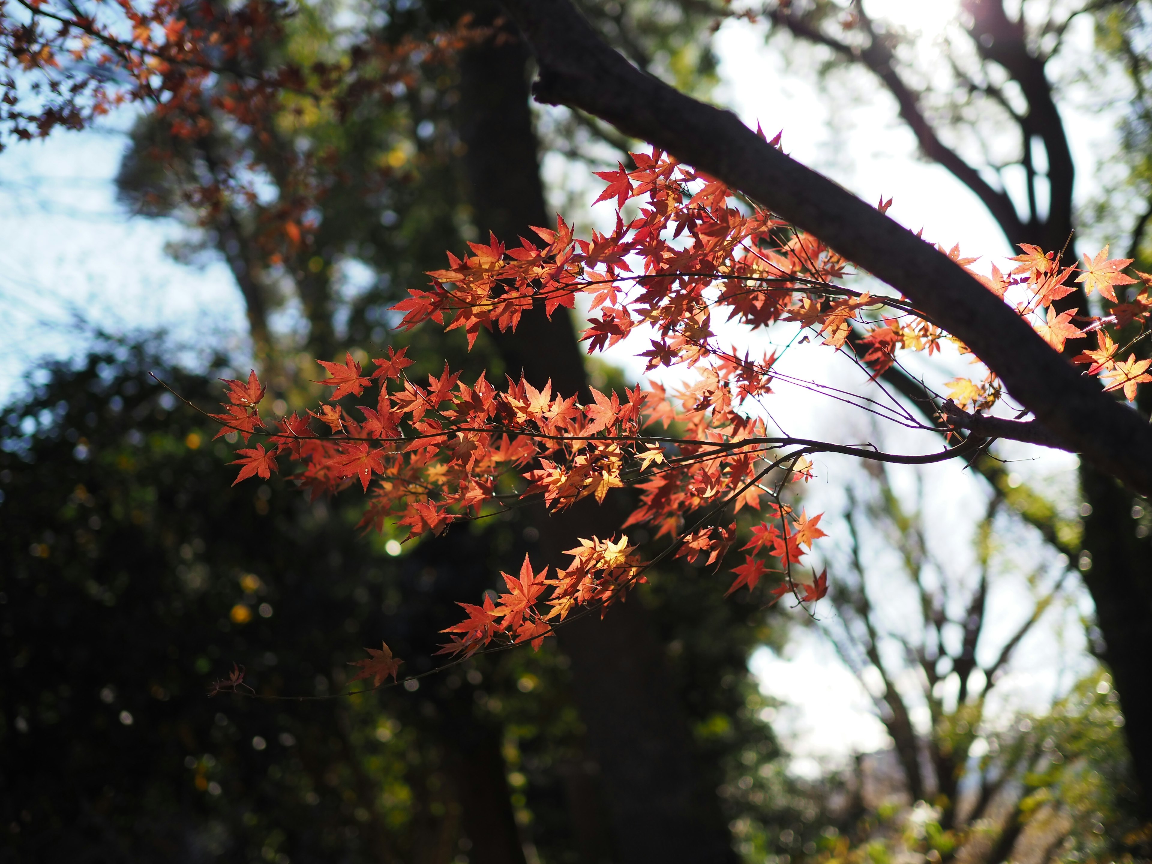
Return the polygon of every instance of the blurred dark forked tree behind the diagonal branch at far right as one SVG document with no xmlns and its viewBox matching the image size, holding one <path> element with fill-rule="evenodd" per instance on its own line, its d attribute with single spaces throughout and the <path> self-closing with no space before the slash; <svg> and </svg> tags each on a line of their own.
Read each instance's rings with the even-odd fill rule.
<svg viewBox="0 0 1152 864">
<path fill-rule="evenodd" d="M 1114 191 L 1097 207 L 1107 214 L 1109 236 L 1121 237 L 1130 256 L 1144 260 L 1150 219 L 1146 83 L 1149 7 L 1144 2 L 1007 3 L 962 0 L 958 15 L 940 33 L 925 36 L 900 21 L 873 16 L 861 0 L 768 2 L 763 13 L 770 38 L 801 46 L 829 86 L 829 99 L 844 99 L 836 86 L 848 75 L 867 75 L 889 98 L 901 123 L 912 132 L 919 154 L 953 174 L 995 220 L 1013 247 L 1031 243 L 1077 258 L 1079 229 L 1092 228 L 1091 213 L 1078 214 L 1077 166 L 1067 116 L 1076 86 L 1107 79 L 1087 99 L 1093 114 L 1123 105 L 1116 156 L 1126 166 Z M 1069 47 L 1081 25 L 1094 28 L 1097 51 Z M 846 75 L 847 74 L 847 75 Z M 1127 82 L 1124 81 L 1127 78 Z M 1092 121 L 1089 121 L 1092 122 Z M 1083 250 L 1082 250 L 1083 251 Z M 1083 290 L 1062 308 L 1089 309 Z M 1071 354 L 1082 350 L 1069 343 Z M 1149 350 L 1139 343 L 1139 356 Z M 1071 355 L 1069 355 L 1071 356 Z M 900 370 L 887 380 L 904 393 L 918 388 Z M 897 380 L 899 379 L 899 380 Z M 931 408 L 923 388 L 918 402 Z M 1142 406 L 1143 407 L 1143 406 Z M 1052 515 L 1034 495 L 1008 494 L 1007 472 L 985 461 L 977 467 L 1009 506 L 1022 513 L 1055 548 L 1079 564 L 1096 605 L 1101 657 L 1115 677 L 1128 720 L 1126 733 L 1139 779 L 1142 808 L 1152 817 L 1152 680 L 1137 658 L 1152 654 L 1152 548 L 1129 514 L 1144 503 L 1090 467 L 1079 471 L 1083 531 L 1059 535 Z M 1146 502 L 1145 502 L 1146 503 Z"/>
</svg>

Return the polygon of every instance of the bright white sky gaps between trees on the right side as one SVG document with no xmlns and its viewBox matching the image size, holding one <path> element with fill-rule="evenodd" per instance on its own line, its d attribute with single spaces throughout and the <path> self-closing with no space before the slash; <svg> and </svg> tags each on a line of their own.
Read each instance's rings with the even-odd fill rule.
<svg viewBox="0 0 1152 864">
<path fill-rule="evenodd" d="M 955 0 L 873 0 L 869 3 L 874 16 L 888 17 L 925 33 L 945 26 L 955 15 L 956 6 Z M 1090 33 L 1084 31 L 1081 38 L 1086 41 Z M 869 92 L 877 90 L 871 76 L 861 73 L 857 81 L 849 82 L 862 98 L 855 106 L 846 107 L 843 100 L 833 105 L 816 82 L 802 74 L 791 74 L 781 53 L 765 51 L 763 36 L 755 26 L 729 24 L 721 28 L 718 53 L 722 59 L 721 99 L 749 126 L 759 122 L 770 137 L 782 130 L 783 147 L 793 157 L 827 173 L 865 200 L 876 202 L 881 196 L 893 198 L 889 215 L 911 229 L 924 228 L 927 240 L 946 248 L 958 243 L 965 255 L 999 258 L 1013 253 L 994 220 L 960 181 L 943 168 L 915 158 L 915 138 L 899 122 L 894 100 L 882 93 L 867 98 Z M 811 68 L 812 65 L 799 63 L 795 71 Z M 1076 112 L 1066 111 L 1064 116 L 1081 170 L 1078 191 L 1082 191 L 1091 183 L 1091 169 L 1098 154 L 1112 147 L 1107 141 L 1111 128 L 1097 121 L 1093 132 L 1084 135 L 1082 130 L 1089 124 L 1081 122 Z M 816 350 L 805 353 L 805 357 L 812 355 L 814 359 Z M 957 373 L 963 373 L 962 366 L 955 367 L 954 374 Z M 781 395 L 798 410 L 803 410 L 802 406 L 814 407 L 814 400 L 806 394 Z M 851 440 L 856 429 L 850 427 L 849 435 L 843 435 L 844 412 L 832 406 L 821 406 L 821 409 L 809 414 L 816 415 L 812 419 L 823 427 L 824 434 L 846 442 Z M 782 407 L 774 411 L 778 416 L 793 414 Z M 905 446 L 923 452 L 923 435 L 918 438 L 922 442 L 917 446 L 908 435 L 894 435 L 888 449 L 909 452 L 900 446 L 907 441 Z M 937 446 L 938 441 L 927 444 L 931 448 Z M 1021 446 L 1014 448 L 1013 456 L 1028 460 L 1016 470 L 1029 480 L 1041 482 L 1043 488 L 1051 491 L 1053 484 L 1068 491 L 1075 488 L 1075 462 L 1066 454 Z M 805 503 L 810 511 L 827 509 L 829 515 L 835 514 L 843 507 L 838 480 L 851 469 L 841 463 L 839 471 L 832 471 L 831 464 L 820 465 L 819 462 L 818 468 L 823 470 L 811 484 Z M 931 543 L 942 556 L 958 562 L 954 575 L 971 573 L 975 564 L 970 545 L 971 514 L 979 513 L 983 506 L 980 482 L 965 477 L 957 463 L 932 465 L 923 471 L 929 477 L 925 485 L 929 488 L 930 537 L 934 536 Z M 907 476 L 908 470 L 903 473 Z M 933 528 L 938 530 L 932 531 Z M 899 582 L 899 578 L 893 577 L 893 581 Z M 1079 611 L 1090 609 L 1091 604 L 1083 591 L 1078 593 Z M 886 597 L 897 612 L 901 607 L 915 608 L 912 598 L 907 594 L 901 598 L 894 590 Z M 873 594 L 873 601 L 876 599 Z M 1030 608 L 1022 581 L 1001 579 L 998 596 L 992 598 L 990 606 L 987 634 L 995 639 L 1014 631 L 1023 609 Z M 824 608 L 818 614 L 834 613 Z M 1073 683 L 1076 670 L 1090 667 L 1076 616 L 1075 608 L 1067 608 L 1062 614 L 1052 613 L 1046 627 L 1039 628 L 1021 645 L 1013 672 L 998 685 L 999 698 L 990 705 L 993 717 L 1005 718 L 1014 708 L 1043 710 L 1055 692 Z M 1067 643 L 1061 644 L 1061 638 Z M 839 661 L 827 641 L 812 629 L 796 634 L 782 658 L 768 650 L 758 652 L 752 669 L 766 692 L 791 703 L 778 712 L 775 725 L 786 740 L 790 740 L 798 757 L 798 771 L 814 770 L 817 759 L 835 761 L 851 751 L 887 746 L 887 736 L 866 691 Z M 917 688 L 912 684 L 909 689 L 915 691 Z M 926 722 L 923 707 L 915 715 L 922 726 Z"/>
</svg>

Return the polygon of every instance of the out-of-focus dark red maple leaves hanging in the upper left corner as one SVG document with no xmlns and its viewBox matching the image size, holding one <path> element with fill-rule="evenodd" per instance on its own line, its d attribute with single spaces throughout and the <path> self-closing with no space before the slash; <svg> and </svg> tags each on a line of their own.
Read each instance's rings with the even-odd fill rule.
<svg viewBox="0 0 1152 864">
<path fill-rule="evenodd" d="M 262 209 L 258 240 L 278 264 L 308 245 L 316 227 L 310 211 L 335 158 L 325 147 L 303 152 L 279 143 L 278 118 L 303 104 L 341 120 L 367 101 L 391 104 L 417 86 L 423 70 L 450 66 L 463 47 L 492 33 L 465 16 L 394 43 L 370 36 L 340 58 L 304 67 L 273 50 L 286 43 L 289 14 L 278 0 L 116 0 L 83 9 L 70 0 L 0 0 L 0 134 L 41 138 L 144 104 L 172 141 L 152 146 L 150 158 L 172 164 L 181 142 L 222 130 L 244 146 L 213 147 L 213 176 L 180 191 L 207 225 L 229 199 L 259 202 L 262 175 L 274 174 L 281 195 Z"/>
</svg>

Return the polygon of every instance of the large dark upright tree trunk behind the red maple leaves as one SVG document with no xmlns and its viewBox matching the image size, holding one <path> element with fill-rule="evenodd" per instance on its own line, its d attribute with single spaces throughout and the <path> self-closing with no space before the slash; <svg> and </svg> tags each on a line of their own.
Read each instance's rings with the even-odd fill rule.
<svg viewBox="0 0 1152 864">
<path fill-rule="evenodd" d="M 492 21 L 494 8 L 480 21 Z M 487 236 L 513 243 L 529 226 L 548 226 L 529 108 L 529 50 L 514 31 L 461 58 L 460 132 L 473 219 Z M 583 353 L 571 318 L 559 310 L 525 314 L 515 333 L 493 334 L 507 371 L 560 393 L 586 392 Z M 585 502 L 590 503 L 591 502 Z M 620 508 L 577 506 L 563 516 L 533 510 L 538 548 L 563 560 L 575 537 L 608 536 Z M 621 862 L 735 861 L 719 804 L 699 788 L 692 741 L 664 653 L 644 607 L 634 599 L 604 620 L 588 616 L 558 631 L 573 661 L 575 697 L 588 727 Z"/>
</svg>

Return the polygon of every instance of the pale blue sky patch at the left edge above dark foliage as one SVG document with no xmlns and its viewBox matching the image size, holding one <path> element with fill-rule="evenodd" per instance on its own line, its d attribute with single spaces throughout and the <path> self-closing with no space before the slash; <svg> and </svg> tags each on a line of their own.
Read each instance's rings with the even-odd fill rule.
<svg viewBox="0 0 1152 864">
<path fill-rule="evenodd" d="M 37 358 L 82 351 L 92 328 L 166 329 L 180 343 L 227 349 L 243 342 L 243 302 L 227 266 L 175 263 L 164 247 L 182 228 L 131 218 L 116 203 L 126 143 L 111 129 L 61 131 L 0 153 L 0 403 Z"/>
</svg>

